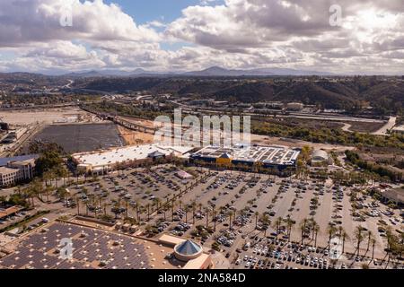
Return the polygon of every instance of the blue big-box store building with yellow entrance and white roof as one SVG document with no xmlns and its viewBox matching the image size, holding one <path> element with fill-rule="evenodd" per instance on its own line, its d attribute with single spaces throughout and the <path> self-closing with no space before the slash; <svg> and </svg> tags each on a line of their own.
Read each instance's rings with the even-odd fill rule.
<svg viewBox="0 0 404 287">
<path fill-rule="evenodd" d="M 191 161 L 215 164 L 221 167 L 283 171 L 296 166 L 299 149 L 285 146 L 235 145 L 232 148 L 208 146 L 193 153 Z"/>
</svg>

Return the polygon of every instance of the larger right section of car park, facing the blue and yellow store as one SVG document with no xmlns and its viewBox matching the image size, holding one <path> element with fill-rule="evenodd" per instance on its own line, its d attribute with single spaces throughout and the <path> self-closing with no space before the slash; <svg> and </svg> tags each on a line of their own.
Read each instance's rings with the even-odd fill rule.
<svg viewBox="0 0 404 287">
<path fill-rule="evenodd" d="M 355 230 L 356 226 L 360 225 L 364 230 L 370 230 L 373 233 L 375 243 L 374 257 L 383 258 L 385 257 L 385 252 L 383 249 L 386 246 L 385 235 L 379 230 L 385 230 L 387 226 L 391 226 L 393 230 L 397 232 L 402 230 L 402 219 L 398 212 L 390 213 L 388 208 L 382 204 L 375 203 L 369 196 L 361 196 L 357 198 L 357 202 L 364 204 L 364 209 L 358 213 L 353 213 L 352 206 L 350 203 L 351 188 L 339 187 L 332 183 L 332 181 L 327 182 L 315 182 L 315 181 L 300 181 L 296 179 L 285 179 L 285 178 L 272 178 L 268 176 L 254 175 L 254 174 L 243 174 L 238 172 L 221 171 L 215 173 L 201 182 L 198 187 L 192 189 L 192 192 L 185 194 L 181 200 L 184 203 L 193 202 L 198 203 L 197 206 L 202 205 L 203 207 L 196 208 L 196 222 L 195 226 L 205 225 L 206 226 L 206 206 L 211 206 L 211 213 L 207 213 L 210 216 L 208 219 L 209 228 L 212 229 L 214 224 L 216 225 L 216 231 L 211 232 L 211 230 L 201 230 L 195 233 L 195 228 L 186 226 L 181 226 L 182 223 L 175 222 L 171 224 L 167 221 L 163 224 L 166 229 L 161 230 L 171 230 L 174 234 L 178 235 L 188 235 L 195 236 L 195 234 L 202 234 L 202 241 L 206 245 L 211 245 L 213 242 L 218 242 L 220 248 L 224 250 L 228 257 L 243 259 L 245 255 L 248 255 L 249 259 L 253 256 L 253 248 L 250 249 L 250 254 L 245 254 L 241 257 L 240 250 L 249 240 L 250 236 L 258 235 L 262 240 L 271 239 L 274 240 L 278 237 L 283 240 L 283 245 L 287 247 L 289 241 L 291 242 L 301 242 L 301 230 L 300 223 L 304 219 L 313 219 L 319 225 L 319 232 L 317 239 L 314 242 L 312 235 L 309 234 L 305 236 L 303 248 L 303 253 L 296 253 L 295 248 L 287 248 L 287 252 L 290 253 L 290 261 L 288 257 L 282 251 L 275 251 L 275 258 L 269 259 L 270 255 L 267 254 L 261 257 L 262 262 L 265 259 L 267 261 L 276 262 L 273 267 L 300 267 L 300 268 L 328 268 L 329 261 L 333 259 L 339 259 L 339 265 L 336 267 L 347 267 L 350 261 L 355 262 L 356 265 L 361 265 L 366 262 L 365 257 L 371 257 L 371 251 L 366 250 L 366 239 L 363 240 L 360 246 L 360 257 L 347 258 L 342 256 L 342 242 L 338 236 L 334 236 L 331 240 L 331 246 L 328 251 L 329 237 L 327 235 L 327 230 L 330 225 L 335 226 L 336 229 L 340 227 L 347 231 L 347 242 L 345 243 L 345 253 L 356 252 L 356 240 L 355 240 Z M 213 218 L 213 207 L 215 207 L 216 222 L 212 222 Z M 232 220 L 232 230 L 229 231 L 229 215 L 228 211 L 233 210 L 235 212 L 235 217 L 233 215 Z M 176 214 L 180 214 L 180 220 L 184 222 L 185 213 L 182 210 L 176 210 Z M 260 229 L 260 222 L 258 223 L 258 230 L 255 230 L 256 213 L 259 213 L 258 217 L 262 214 L 267 214 L 269 218 L 268 230 L 265 232 L 266 237 L 264 237 L 264 230 Z M 367 216 L 368 214 L 377 214 L 376 217 Z M 355 215 L 355 216 L 354 216 Z M 160 218 L 161 217 L 158 217 Z M 290 239 L 287 234 L 285 223 L 283 223 L 282 228 L 277 234 L 277 230 L 274 227 L 274 222 L 277 218 L 282 218 L 284 220 L 291 219 L 294 225 L 290 232 Z M 187 219 L 188 225 L 192 224 L 192 215 L 188 215 Z M 381 223 L 382 222 L 382 223 Z M 383 226 L 381 229 L 381 226 Z M 200 229 L 200 227 L 199 227 Z M 210 231 L 210 232 L 209 232 Z M 212 234 L 213 233 L 213 234 Z M 316 243 L 317 247 L 325 248 L 321 254 L 320 249 L 313 252 L 313 256 L 307 257 L 304 252 L 309 252 L 307 248 L 314 246 Z M 268 242 L 259 243 L 259 245 L 264 244 L 268 247 Z M 279 243 L 281 244 L 281 243 Z M 292 244 L 292 243 L 291 243 Z M 271 243 L 270 245 L 273 245 Z M 284 247 L 283 247 L 284 249 Z M 282 250 L 283 250 L 282 249 Z M 239 252 L 237 252 L 239 251 Z M 279 258 L 277 258 L 277 253 L 279 257 L 285 257 L 288 264 L 283 262 L 280 264 Z M 299 256 L 300 255 L 300 256 Z M 254 256 L 252 260 L 255 259 Z M 277 259 L 277 260 L 275 260 Z M 352 260 L 350 260 L 352 259 Z M 275 261 L 274 261 L 275 260 Z M 297 260 L 297 263 L 296 263 Z M 256 264 L 259 263 L 259 257 L 257 257 Z M 266 262 L 267 262 L 266 261 Z M 306 262 L 307 265 L 302 265 L 302 262 Z M 368 260 L 369 261 L 369 260 Z M 248 262 L 248 260 L 247 260 Z M 252 261 L 250 261 L 250 265 Z M 261 266 L 261 263 L 259 266 Z M 241 264 L 237 265 L 239 267 L 246 267 Z M 256 266 L 254 264 L 254 266 Z M 268 263 L 267 263 L 268 264 Z M 372 262 L 373 264 L 373 262 Z M 271 264 L 268 265 L 270 267 Z M 355 265 L 354 265 L 355 266 Z M 376 265 L 377 266 L 377 260 Z M 375 267 L 372 265 L 372 267 Z M 247 266 L 249 267 L 249 266 Z M 352 266 L 351 266 L 352 267 Z"/>
</svg>

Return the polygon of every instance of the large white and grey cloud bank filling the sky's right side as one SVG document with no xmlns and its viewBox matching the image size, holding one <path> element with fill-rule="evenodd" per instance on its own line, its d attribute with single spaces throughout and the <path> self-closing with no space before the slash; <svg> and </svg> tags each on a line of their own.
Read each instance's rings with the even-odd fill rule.
<svg viewBox="0 0 404 287">
<path fill-rule="evenodd" d="M 343 11 L 342 27 L 329 25 L 329 7 L 336 3 Z M 351 72 L 357 58 L 363 57 L 369 71 L 381 62 L 387 71 L 389 62 L 381 53 L 393 47 L 404 50 L 403 23 L 402 0 L 226 0 L 222 5 L 188 7 L 166 34 L 229 54 L 250 55 L 234 57 L 253 58 L 256 65 L 271 65 L 278 57 L 278 65 L 315 64 L 332 72 Z M 269 59 L 268 50 L 273 55 Z M 344 66 L 319 62 L 340 63 L 341 58 Z M 403 73 L 396 64 L 391 62 L 391 69 Z"/>
</svg>

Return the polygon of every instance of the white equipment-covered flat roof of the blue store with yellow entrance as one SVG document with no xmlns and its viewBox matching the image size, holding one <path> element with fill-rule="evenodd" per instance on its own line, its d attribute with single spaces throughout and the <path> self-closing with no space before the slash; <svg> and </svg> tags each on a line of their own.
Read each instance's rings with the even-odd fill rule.
<svg viewBox="0 0 404 287">
<path fill-rule="evenodd" d="M 294 164 L 300 154 L 300 150 L 285 146 L 234 146 L 223 148 L 207 146 L 195 152 L 192 156 L 217 159 L 224 153 L 228 154 L 233 161 L 263 162 L 267 164 L 289 165 Z"/>
</svg>

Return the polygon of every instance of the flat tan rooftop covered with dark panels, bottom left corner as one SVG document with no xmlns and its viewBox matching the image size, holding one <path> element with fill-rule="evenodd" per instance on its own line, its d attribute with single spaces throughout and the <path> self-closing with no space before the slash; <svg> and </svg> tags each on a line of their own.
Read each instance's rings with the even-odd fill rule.
<svg viewBox="0 0 404 287">
<path fill-rule="evenodd" d="M 57 250 L 61 239 L 72 239 L 73 257 L 63 259 Z M 16 239 L 11 253 L 0 258 L 9 269 L 177 269 L 184 263 L 165 257 L 173 249 L 151 240 L 70 222 L 50 222 Z M 102 262 L 102 265 L 101 265 Z"/>
</svg>

